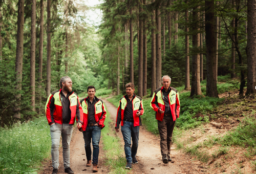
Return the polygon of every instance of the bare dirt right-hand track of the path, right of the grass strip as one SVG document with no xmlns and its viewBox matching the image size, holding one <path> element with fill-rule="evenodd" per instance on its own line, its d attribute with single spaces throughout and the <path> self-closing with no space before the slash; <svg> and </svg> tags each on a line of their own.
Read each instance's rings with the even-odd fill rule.
<svg viewBox="0 0 256 174">
<path fill-rule="evenodd" d="M 105 106 L 110 113 L 113 124 L 115 124 L 117 108 L 109 101 L 103 99 Z M 122 133 L 116 133 L 124 146 Z M 205 173 L 201 168 L 201 162 L 190 159 L 189 156 L 181 153 L 179 150 L 172 150 L 170 153 L 174 163 L 164 164 L 160 153 L 160 138 L 148 132 L 143 126 L 140 126 L 139 147 L 137 160 L 139 164 L 133 165 L 132 173 Z M 203 171 L 202 171 L 203 170 Z"/>
</svg>

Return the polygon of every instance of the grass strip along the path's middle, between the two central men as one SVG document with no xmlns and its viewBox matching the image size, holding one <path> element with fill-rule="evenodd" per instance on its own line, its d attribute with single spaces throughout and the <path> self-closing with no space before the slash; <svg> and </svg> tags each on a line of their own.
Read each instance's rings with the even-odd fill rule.
<svg viewBox="0 0 256 174">
<path fill-rule="evenodd" d="M 101 130 L 101 139 L 106 157 L 105 165 L 110 166 L 110 173 L 128 173 L 130 170 L 125 169 L 126 159 L 123 155 L 124 149 L 120 144 L 120 139 L 114 136 L 114 128 L 110 126 L 112 122 L 107 111 L 104 121 L 105 127 Z"/>
</svg>

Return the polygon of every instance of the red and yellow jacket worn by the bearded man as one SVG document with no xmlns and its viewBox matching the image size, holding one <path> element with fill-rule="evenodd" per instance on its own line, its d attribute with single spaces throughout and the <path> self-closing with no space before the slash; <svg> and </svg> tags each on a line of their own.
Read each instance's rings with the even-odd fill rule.
<svg viewBox="0 0 256 174">
<path fill-rule="evenodd" d="M 60 92 L 61 89 L 52 92 L 47 99 L 45 113 L 49 125 L 53 123 L 62 124 L 62 104 Z M 82 107 L 77 94 L 72 92 L 72 94 L 69 96 L 69 101 L 71 111 L 71 119 L 69 124 L 74 124 L 75 118 L 77 123 L 83 124 Z"/>
</svg>

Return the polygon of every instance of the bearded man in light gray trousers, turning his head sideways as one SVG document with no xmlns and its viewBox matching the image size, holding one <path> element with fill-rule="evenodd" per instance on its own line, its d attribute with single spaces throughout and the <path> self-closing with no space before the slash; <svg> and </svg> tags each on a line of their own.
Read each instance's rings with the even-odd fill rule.
<svg viewBox="0 0 256 174">
<path fill-rule="evenodd" d="M 82 107 L 78 96 L 72 92 L 72 80 L 68 76 L 60 78 L 60 90 L 52 92 L 46 102 L 45 112 L 50 125 L 52 139 L 52 174 L 58 172 L 59 166 L 59 141 L 62 137 L 63 164 L 66 173 L 74 173 L 70 168 L 70 141 L 75 118 L 77 127 L 83 124 Z"/>
</svg>

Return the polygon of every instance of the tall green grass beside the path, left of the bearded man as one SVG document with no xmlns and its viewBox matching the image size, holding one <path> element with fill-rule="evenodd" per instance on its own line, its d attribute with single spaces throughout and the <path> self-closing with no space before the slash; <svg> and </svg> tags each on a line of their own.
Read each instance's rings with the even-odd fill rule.
<svg viewBox="0 0 256 174">
<path fill-rule="evenodd" d="M 0 128 L 0 173 L 37 173 L 51 151 L 50 127 L 45 117 L 12 128 Z"/>
</svg>

